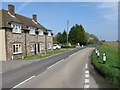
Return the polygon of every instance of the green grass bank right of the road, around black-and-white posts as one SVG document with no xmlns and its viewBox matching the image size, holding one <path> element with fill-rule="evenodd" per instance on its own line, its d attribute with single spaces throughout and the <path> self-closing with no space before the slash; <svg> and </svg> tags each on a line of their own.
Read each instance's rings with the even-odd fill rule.
<svg viewBox="0 0 120 90">
<path fill-rule="evenodd" d="M 100 57 L 97 58 L 95 51 L 92 53 L 92 64 L 97 71 L 113 85 L 113 87 L 120 88 L 120 61 L 118 59 L 118 47 L 103 43 L 98 47 L 100 50 Z M 106 64 L 103 64 L 102 53 L 106 52 Z"/>
</svg>

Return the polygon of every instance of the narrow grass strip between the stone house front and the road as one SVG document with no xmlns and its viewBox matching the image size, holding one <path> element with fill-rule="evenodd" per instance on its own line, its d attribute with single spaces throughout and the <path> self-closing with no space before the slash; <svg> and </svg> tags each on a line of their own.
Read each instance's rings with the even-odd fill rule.
<svg viewBox="0 0 120 90">
<path fill-rule="evenodd" d="M 32 56 L 32 57 L 25 57 L 23 60 L 30 60 L 30 59 L 39 59 L 39 58 L 44 58 L 44 57 L 48 57 L 48 56 L 51 56 L 53 54 L 57 54 L 57 53 L 61 53 L 61 52 L 65 52 L 66 50 L 53 50 L 53 52 L 49 52 L 47 54 L 41 54 L 41 55 L 35 55 L 35 56 Z"/>
</svg>

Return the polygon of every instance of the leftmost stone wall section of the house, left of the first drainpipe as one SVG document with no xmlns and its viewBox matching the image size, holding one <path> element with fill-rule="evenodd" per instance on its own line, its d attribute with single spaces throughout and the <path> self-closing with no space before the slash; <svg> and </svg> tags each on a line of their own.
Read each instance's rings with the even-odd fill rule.
<svg viewBox="0 0 120 90">
<path fill-rule="evenodd" d="M 7 45 L 7 60 L 21 59 L 22 56 L 25 56 L 25 33 L 12 33 L 11 29 L 6 29 L 6 45 Z M 22 53 L 13 54 L 13 44 L 21 44 L 22 45 Z"/>
</svg>

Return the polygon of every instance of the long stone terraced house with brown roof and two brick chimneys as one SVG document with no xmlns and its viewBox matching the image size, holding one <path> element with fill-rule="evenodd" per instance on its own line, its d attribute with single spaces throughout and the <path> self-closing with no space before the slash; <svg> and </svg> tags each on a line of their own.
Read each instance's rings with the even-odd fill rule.
<svg viewBox="0 0 120 90">
<path fill-rule="evenodd" d="M 0 60 L 23 59 L 26 56 L 52 52 L 53 33 L 37 21 L 14 12 L 14 6 L 0 10 Z"/>
</svg>

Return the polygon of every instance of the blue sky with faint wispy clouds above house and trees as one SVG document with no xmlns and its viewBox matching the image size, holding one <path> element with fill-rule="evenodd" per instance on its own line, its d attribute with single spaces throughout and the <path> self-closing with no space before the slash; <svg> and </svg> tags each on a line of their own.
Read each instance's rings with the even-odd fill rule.
<svg viewBox="0 0 120 90">
<path fill-rule="evenodd" d="M 83 25 L 86 32 L 106 41 L 118 40 L 117 2 L 3 2 L 15 6 L 15 12 L 32 18 L 37 15 L 38 22 L 53 30 L 54 35 L 69 30 L 75 24 Z"/>
</svg>

